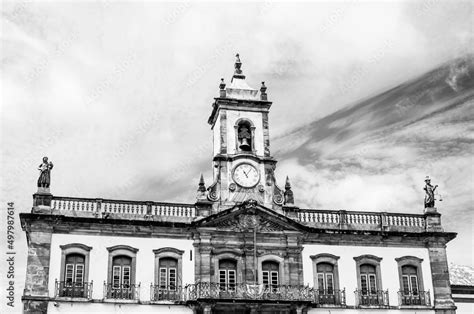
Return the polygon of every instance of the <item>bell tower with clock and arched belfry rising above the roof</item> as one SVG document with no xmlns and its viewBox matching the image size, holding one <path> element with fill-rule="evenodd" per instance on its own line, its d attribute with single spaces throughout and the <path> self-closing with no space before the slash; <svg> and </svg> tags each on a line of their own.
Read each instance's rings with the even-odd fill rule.
<svg viewBox="0 0 474 314">
<path fill-rule="evenodd" d="M 215 211 L 248 199 L 280 209 L 284 193 L 276 185 L 277 161 L 270 155 L 268 114 L 272 103 L 262 82 L 260 95 L 250 87 L 236 55 L 234 75 L 227 86 L 219 85 L 208 123 L 214 135 L 214 182 L 208 188 L 208 200 Z"/>
</svg>

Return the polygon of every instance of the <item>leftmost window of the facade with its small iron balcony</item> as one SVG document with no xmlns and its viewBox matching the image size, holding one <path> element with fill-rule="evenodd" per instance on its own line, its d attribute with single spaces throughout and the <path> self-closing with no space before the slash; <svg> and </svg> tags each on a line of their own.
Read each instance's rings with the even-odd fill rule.
<svg viewBox="0 0 474 314">
<path fill-rule="evenodd" d="M 60 246 L 61 271 L 56 281 L 57 297 L 90 298 L 91 284 L 89 277 L 89 254 L 91 247 L 71 243 Z"/>
</svg>

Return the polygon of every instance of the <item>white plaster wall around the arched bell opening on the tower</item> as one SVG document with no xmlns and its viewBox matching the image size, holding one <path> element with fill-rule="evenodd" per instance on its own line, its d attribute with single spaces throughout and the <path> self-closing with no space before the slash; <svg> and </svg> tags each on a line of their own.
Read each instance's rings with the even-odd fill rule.
<svg viewBox="0 0 474 314">
<path fill-rule="evenodd" d="M 263 120 L 260 112 L 248 112 L 238 110 L 227 110 L 227 151 L 235 154 L 235 123 L 240 118 L 252 121 L 255 126 L 255 151 L 257 155 L 263 155 Z"/>
</svg>

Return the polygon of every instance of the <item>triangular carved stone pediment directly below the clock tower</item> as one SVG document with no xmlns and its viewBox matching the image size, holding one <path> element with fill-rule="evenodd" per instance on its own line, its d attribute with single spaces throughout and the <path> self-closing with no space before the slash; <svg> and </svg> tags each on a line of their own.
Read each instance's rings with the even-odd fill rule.
<svg viewBox="0 0 474 314">
<path fill-rule="evenodd" d="M 305 226 L 276 211 L 248 200 L 217 214 L 194 222 L 196 227 L 211 227 L 221 230 L 259 232 L 303 231 Z"/>
</svg>

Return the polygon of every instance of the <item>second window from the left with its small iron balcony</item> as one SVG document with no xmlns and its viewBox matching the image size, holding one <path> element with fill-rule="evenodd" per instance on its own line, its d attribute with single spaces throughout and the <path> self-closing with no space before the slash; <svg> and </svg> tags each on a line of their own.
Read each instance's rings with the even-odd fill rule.
<svg viewBox="0 0 474 314">
<path fill-rule="evenodd" d="M 128 245 L 108 247 L 109 270 L 104 293 L 107 299 L 137 300 L 140 284 L 135 283 L 138 249 Z"/>
</svg>

